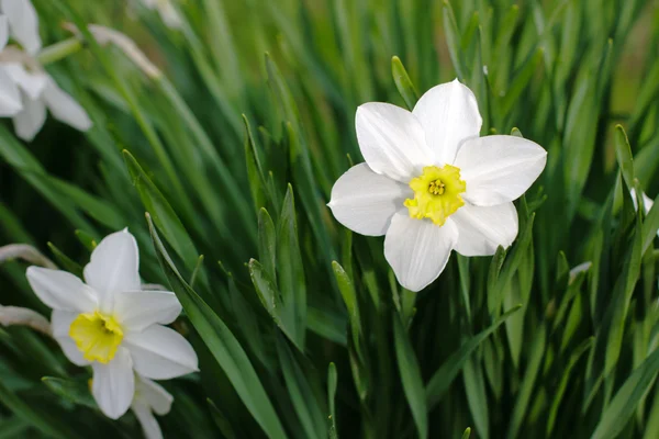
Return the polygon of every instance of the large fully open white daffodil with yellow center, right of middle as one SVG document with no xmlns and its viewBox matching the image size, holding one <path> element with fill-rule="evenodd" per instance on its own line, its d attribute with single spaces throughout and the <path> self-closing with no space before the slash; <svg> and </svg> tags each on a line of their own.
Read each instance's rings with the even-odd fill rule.
<svg viewBox="0 0 659 439">
<path fill-rule="evenodd" d="M 479 137 L 471 90 L 455 80 L 427 91 L 412 112 L 370 102 L 357 109 L 366 164 L 344 173 L 330 207 L 346 227 L 384 238 L 384 256 L 404 288 L 420 291 L 451 250 L 493 255 L 517 236 L 520 198 L 547 153 L 514 136 Z"/>
</svg>

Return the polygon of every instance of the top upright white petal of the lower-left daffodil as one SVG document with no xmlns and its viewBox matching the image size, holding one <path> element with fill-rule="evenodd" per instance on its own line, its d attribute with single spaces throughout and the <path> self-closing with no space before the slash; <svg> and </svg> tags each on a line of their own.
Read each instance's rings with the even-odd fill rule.
<svg viewBox="0 0 659 439">
<path fill-rule="evenodd" d="M 101 309 L 112 312 L 115 293 L 139 291 L 137 243 L 127 230 L 105 236 L 91 252 L 85 280 L 101 295 Z"/>
</svg>

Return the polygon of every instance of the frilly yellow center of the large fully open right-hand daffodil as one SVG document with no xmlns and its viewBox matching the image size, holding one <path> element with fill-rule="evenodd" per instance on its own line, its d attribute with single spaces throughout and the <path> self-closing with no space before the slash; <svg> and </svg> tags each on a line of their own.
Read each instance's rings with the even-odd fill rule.
<svg viewBox="0 0 659 439">
<path fill-rule="evenodd" d="M 465 205 L 460 194 L 467 184 L 460 180 L 460 168 L 455 166 L 426 166 L 420 177 L 410 181 L 410 188 L 414 199 L 405 200 L 405 206 L 413 218 L 431 218 L 443 226 L 447 217 Z"/>
</svg>

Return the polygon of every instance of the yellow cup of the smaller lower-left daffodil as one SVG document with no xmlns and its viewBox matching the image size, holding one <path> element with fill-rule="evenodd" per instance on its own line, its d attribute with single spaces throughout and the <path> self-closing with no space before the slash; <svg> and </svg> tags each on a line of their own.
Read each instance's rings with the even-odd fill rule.
<svg viewBox="0 0 659 439">
<path fill-rule="evenodd" d="M 69 336 L 86 360 L 107 364 L 123 340 L 123 330 L 114 317 L 98 311 L 80 314 L 71 323 Z"/>
</svg>

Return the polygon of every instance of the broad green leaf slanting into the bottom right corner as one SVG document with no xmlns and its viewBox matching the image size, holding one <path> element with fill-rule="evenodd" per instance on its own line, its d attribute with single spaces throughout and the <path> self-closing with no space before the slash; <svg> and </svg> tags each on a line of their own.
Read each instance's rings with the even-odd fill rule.
<svg viewBox="0 0 659 439">
<path fill-rule="evenodd" d="M 652 386 L 659 371 L 659 349 L 656 349 L 617 391 L 606 407 L 591 439 L 614 439 L 634 415 L 636 406 Z"/>
</svg>

